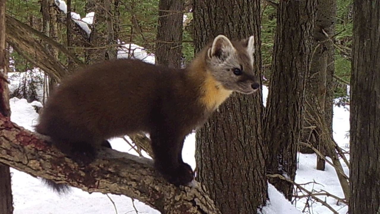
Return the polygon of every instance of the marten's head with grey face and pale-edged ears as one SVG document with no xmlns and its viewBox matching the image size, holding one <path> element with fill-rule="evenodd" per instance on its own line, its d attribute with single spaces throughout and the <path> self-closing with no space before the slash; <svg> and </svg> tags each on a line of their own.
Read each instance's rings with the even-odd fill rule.
<svg viewBox="0 0 380 214">
<path fill-rule="evenodd" d="M 250 94 L 260 85 L 253 70 L 254 37 L 231 42 L 218 35 L 207 50 L 206 63 L 211 75 L 225 89 Z"/>
</svg>

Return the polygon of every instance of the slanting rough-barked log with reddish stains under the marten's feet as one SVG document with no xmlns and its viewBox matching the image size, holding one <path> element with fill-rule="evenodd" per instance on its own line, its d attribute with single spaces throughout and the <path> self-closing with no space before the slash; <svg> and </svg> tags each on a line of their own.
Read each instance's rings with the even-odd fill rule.
<svg viewBox="0 0 380 214">
<path fill-rule="evenodd" d="M 155 171 L 151 160 L 105 150 L 89 166 L 78 164 L 0 115 L 0 163 L 32 176 L 64 182 L 87 192 L 114 193 L 136 198 L 162 214 L 219 214 L 199 183 L 175 187 Z"/>
</svg>

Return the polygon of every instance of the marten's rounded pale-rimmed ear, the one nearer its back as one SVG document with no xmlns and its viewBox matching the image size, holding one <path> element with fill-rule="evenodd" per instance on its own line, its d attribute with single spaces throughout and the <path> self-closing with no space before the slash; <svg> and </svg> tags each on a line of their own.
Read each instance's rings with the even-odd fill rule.
<svg viewBox="0 0 380 214">
<path fill-rule="evenodd" d="M 208 56 L 209 58 L 218 57 L 221 60 L 225 60 L 231 53 L 235 52 L 236 49 L 231 41 L 223 35 L 218 35 L 208 50 Z"/>
</svg>

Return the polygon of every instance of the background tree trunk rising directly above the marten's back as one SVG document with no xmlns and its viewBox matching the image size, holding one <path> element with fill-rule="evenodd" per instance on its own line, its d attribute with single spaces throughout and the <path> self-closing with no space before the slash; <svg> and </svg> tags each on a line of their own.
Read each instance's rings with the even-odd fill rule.
<svg viewBox="0 0 380 214">
<path fill-rule="evenodd" d="M 179 68 L 182 53 L 182 22 L 185 0 L 160 0 L 158 4 L 158 27 L 156 64 Z"/>
</svg>

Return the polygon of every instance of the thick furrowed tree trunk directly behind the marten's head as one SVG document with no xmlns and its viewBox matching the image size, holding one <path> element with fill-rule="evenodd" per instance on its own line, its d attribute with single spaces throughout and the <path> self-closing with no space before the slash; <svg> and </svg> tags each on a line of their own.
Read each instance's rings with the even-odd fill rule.
<svg viewBox="0 0 380 214">
<path fill-rule="evenodd" d="M 255 36 L 261 77 L 260 1 L 194 1 L 194 43 L 199 51 L 219 34 Z M 196 134 L 198 180 L 222 213 L 255 214 L 268 198 L 262 133 L 262 97 L 234 94 Z"/>
</svg>

